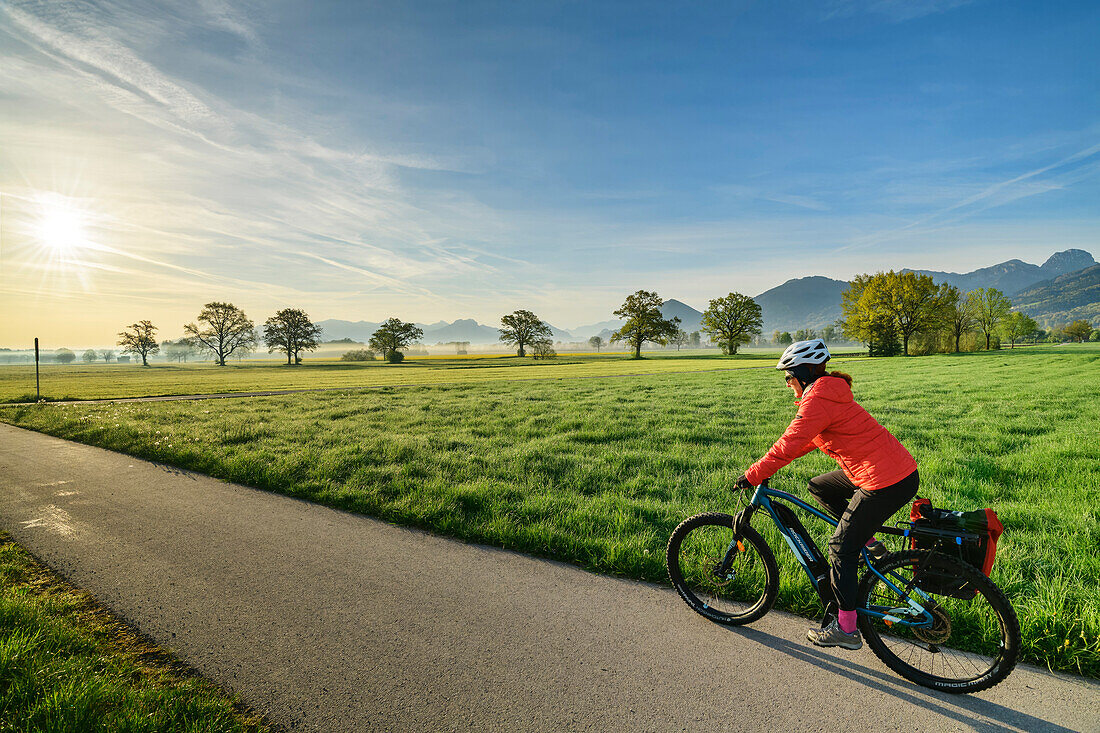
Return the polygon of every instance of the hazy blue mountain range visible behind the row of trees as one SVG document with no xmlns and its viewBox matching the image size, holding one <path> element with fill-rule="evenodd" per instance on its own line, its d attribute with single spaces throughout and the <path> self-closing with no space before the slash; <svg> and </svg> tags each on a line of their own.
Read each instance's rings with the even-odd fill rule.
<svg viewBox="0 0 1100 733">
<path fill-rule="evenodd" d="M 1009 260 L 974 272 L 956 273 L 934 270 L 903 270 L 931 275 L 937 283 L 955 285 L 964 293 L 979 287 L 996 287 L 1013 300 L 1014 309 L 1035 318 L 1044 328 L 1084 318 L 1100 322 L 1100 264 L 1084 250 L 1056 252 L 1042 265 Z M 800 328 L 821 329 L 840 318 L 840 295 L 848 287 L 843 280 L 814 275 L 789 280 L 754 299 L 763 311 L 763 333 L 795 331 Z M 680 318 L 686 332 L 701 330 L 703 314 L 690 305 L 670 298 L 661 313 L 666 318 Z M 381 324 L 359 320 L 322 320 L 326 340 L 350 338 L 366 342 Z M 424 329 L 422 343 L 448 341 L 498 343 L 499 330 L 471 318 L 448 322 L 417 324 Z M 610 339 L 623 326 L 622 320 L 602 320 L 564 330 L 550 326 L 554 340 L 586 341 L 592 336 Z"/>
</svg>

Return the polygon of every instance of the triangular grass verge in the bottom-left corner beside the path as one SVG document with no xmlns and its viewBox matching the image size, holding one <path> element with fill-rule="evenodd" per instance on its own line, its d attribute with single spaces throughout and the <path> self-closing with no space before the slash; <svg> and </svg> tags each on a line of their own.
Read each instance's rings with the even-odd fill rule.
<svg viewBox="0 0 1100 733">
<path fill-rule="evenodd" d="M 0 731 L 267 731 L 0 533 Z"/>
</svg>

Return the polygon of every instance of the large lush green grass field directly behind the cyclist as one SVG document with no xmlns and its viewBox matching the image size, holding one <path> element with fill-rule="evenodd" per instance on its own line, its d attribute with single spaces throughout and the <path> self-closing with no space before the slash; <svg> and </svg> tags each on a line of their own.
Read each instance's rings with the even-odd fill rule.
<svg viewBox="0 0 1100 733">
<path fill-rule="evenodd" d="M 997 510 L 1005 534 L 993 579 L 1020 615 L 1023 658 L 1100 676 L 1100 349 L 836 366 L 854 375 L 860 403 L 916 457 L 922 496 Z M 748 369 L 28 405 L 0 411 L 0 419 L 466 540 L 667 582 L 672 529 L 701 511 L 736 511 L 729 486 L 793 412 L 774 371 Z M 812 453 L 773 485 L 806 495 L 806 480 L 834 468 Z M 801 569 L 770 527 L 766 534 L 783 568 L 779 606 L 815 614 Z M 817 536 L 824 546 L 825 533 Z"/>
</svg>

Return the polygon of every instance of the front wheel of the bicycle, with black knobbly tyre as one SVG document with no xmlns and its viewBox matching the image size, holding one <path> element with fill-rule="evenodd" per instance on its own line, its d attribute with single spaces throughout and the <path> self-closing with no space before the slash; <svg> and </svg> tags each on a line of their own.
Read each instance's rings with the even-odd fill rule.
<svg viewBox="0 0 1100 733">
<path fill-rule="evenodd" d="M 734 517 L 697 514 L 669 538 L 669 579 L 695 612 L 739 626 L 768 613 L 779 592 L 779 566 L 768 543 L 752 527 L 734 540 Z"/>
</svg>

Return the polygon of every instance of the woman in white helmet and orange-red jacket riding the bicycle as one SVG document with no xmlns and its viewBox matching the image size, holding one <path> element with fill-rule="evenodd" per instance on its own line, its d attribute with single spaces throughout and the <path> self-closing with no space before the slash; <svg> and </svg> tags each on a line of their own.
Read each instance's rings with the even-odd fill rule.
<svg viewBox="0 0 1100 733">
<path fill-rule="evenodd" d="M 838 521 L 828 544 L 829 581 L 839 612 L 806 636 L 817 646 L 858 649 L 864 645 L 856 627 L 856 588 L 859 554 L 866 545 L 873 557 L 886 547 L 875 532 L 916 495 L 916 461 L 889 430 L 851 396 L 851 378 L 826 373 L 828 349 L 821 339 L 798 341 L 783 352 L 776 369 L 787 372 L 787 384 L 798 397 L 799 413 L 776 445 L 737 481 L 737 488 L 758 486 L 795 458 L 821 448 L 840 464 L 810 480 L 810 493 Z"/>
</svg>

